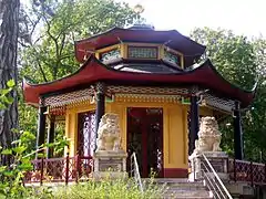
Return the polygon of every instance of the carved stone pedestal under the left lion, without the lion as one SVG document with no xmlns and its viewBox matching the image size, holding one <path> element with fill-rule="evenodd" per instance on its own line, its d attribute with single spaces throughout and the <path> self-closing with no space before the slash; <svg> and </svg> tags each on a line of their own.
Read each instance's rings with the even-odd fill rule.
<svg viewBox="0 0 266 199">
<path fill-rule="evenodd" d="M 126 153 L 99 150 L 93 156 L 94 178 L 126 178 Z"/>
</svg>

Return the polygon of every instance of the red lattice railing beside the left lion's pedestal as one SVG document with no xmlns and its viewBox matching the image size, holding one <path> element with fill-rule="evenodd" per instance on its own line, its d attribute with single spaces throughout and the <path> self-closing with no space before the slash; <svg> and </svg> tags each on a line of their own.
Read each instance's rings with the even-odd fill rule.
<svg viewBox="0 0 266 199">
<path fill-rule="evenodd" d="M 90 178 L 92 172 L 92 157 L 75 157 L 35 159 L 33 170 L 24 176 L 24 184 L 79 181 Z"/>
</svg>

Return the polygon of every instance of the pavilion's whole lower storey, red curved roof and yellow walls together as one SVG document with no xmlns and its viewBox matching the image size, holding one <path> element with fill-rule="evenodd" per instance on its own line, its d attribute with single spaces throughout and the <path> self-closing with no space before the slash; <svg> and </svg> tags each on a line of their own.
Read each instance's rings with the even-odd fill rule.
<svg viewBox="0 0 266 199">
<path fill-rule="evenodd" d="M 37 148 L 53 143 L 57 118 L 64 121 L 71 140 L 64 157 L 53 161 L 49 149 L 47 159 L 35 160 L 41 164 L 35 168 L 43 170 L 43 179 L 48 170 L 48 176 L 53 174 L 49 165 L 65 163 L 55 172 L 61 177 L 52 175 L 52 179 L 66 181 L 80 178 L 83 163 L 86 176 L 93 170 L 89 159 L 104 113 L 119 115 L 122 148 L 129 157 L 137 154 L 142 177 L 152 170 L 157 177 L 187 177 L 201 116 L 234 115 L 235 158 L 242 160 L 241 108 L 254 97 L 254 91 L 244 92 L 218 75 L 209 60 L 188 72 L 161 74 L 119 71 L 91 55 L 70 76 L 39 85 L 24 82 L 23 88 L 27 102 L 39 107 Z"/>
</svg>

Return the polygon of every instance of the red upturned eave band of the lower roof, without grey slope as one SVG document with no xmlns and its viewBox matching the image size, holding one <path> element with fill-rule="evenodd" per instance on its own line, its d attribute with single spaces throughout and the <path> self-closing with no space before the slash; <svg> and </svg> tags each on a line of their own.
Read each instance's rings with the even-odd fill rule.
<svg viewBox="0 0 266 199">
<path fill-rule="evenodd" d="M 75 87 L 82 84 L 90 84 L 96 81 L 121 81 L 121 82 L 149 82 L 164 84 L 197 84 L 206 88 L 221 93 L 242 102 L 247 106 L 254 98 L 254 91 L 245 91 L 226 81 L 213 66 L 209 60 L 206 60 L 198 67 L 171 74 L 152 74 L 117 71 L 101 63 L 94 55 L 91 55 L 86 62 L 73 74 L 42 84 L 30 84 L 23 81 L 24 101 L 31 104 L 38 104 L 39 96 L 58 92 L 65 88 Z"/>
</svg>

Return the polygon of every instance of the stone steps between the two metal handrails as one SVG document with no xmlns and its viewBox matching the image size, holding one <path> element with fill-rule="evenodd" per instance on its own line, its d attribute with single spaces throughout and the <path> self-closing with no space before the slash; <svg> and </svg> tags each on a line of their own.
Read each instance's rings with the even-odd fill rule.
<svg viewBox="0 0 266 199">
<path fill-rule="evenodd" d="M 212 191 L 203 182 L 188 182 L 187 178 L 157 178 L 155 182 L 163 187 L 164 199 L 208 199 Z"/>
</svg>

